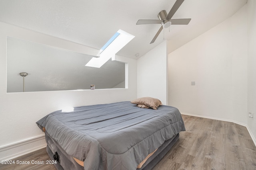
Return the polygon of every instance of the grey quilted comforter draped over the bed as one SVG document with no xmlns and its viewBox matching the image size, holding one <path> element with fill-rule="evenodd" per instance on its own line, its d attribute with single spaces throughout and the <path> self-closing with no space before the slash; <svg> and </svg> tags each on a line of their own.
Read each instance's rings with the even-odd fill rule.
<svg viewBox="0 0 256 170">
<path fill-rule="evenodd" d="M 36 123 L 69 155 L 84 160 L 85 170 L 136 170 L 164 141 L 185 131 L 175 107 L 153 110 L 130 102 L 55 111 Z"/>
</svg>

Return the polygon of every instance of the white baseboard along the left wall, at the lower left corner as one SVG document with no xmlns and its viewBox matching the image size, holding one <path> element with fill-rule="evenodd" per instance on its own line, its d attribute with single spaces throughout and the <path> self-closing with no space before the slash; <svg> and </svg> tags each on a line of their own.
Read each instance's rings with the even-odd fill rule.
<svg viewBox="0 0 256 170">
<path fill-rule="evenodd" d="M 0 160 L 11 160 L 46 147 L 44 136 L 35 137 L 0 148 Z"/>
</svg>

